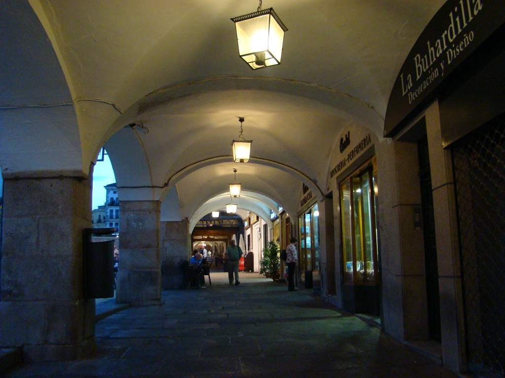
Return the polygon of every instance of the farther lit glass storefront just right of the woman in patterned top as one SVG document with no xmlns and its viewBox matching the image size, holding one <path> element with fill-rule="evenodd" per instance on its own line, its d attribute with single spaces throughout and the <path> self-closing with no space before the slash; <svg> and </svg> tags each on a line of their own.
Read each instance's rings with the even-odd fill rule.
<svg viewBox="0 0 505 378">
<path fill-rule="evenodd" d="M 318 204 L 301 214 L 300 226 L 300 270 L 319 271 L 319 211 Z"/>
</svg>

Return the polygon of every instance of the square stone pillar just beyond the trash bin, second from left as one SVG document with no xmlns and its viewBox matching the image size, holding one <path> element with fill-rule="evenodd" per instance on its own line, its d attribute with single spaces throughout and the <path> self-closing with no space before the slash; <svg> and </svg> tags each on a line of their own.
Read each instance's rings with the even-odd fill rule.
<svg viewBox="0 0 505 378">
<path fill-rule="evenodd" d="M 121 201 L 116 301 L 160 304 L 160 201 Z"/>
</svg>

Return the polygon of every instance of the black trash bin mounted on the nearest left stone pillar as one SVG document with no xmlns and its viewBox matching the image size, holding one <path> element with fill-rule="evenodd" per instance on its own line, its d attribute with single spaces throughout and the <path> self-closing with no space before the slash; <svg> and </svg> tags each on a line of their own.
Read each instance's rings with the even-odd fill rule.
<svg viewBox="0 0 505 378">
<path fill-rule="evenodd" d="M 114 296 L 114 240 L 92 242 L 91 235 L 109 235 L 115 228 L 84 229 L 84 298 Z"/>
</svg>

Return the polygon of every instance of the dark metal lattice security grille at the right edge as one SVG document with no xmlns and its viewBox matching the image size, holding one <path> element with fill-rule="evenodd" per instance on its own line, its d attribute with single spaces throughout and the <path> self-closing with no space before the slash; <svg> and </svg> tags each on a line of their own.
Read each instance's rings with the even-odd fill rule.
<svg viewBox="0 0 505 378">
<path fill-rule="evenodd" d="M 468 365 L 505 376 L 505 116 L 452 152 Z"/>
</svg>

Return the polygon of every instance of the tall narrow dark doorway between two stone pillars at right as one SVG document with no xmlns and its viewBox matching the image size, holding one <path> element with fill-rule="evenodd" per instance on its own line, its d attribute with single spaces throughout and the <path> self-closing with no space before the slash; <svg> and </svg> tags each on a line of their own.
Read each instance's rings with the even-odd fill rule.
<svg viewBox="0 0 505 378">
<path fill-rule="evenodd" d="M 426 292 L 428 301 L 428 326 L 430 338 L 440 341 L 440 298 L 438 291 L 438 263 L 433 215 L 433 193 L 431 187 L 428 139 L 418 142 L 419 180 L 421 183 L 421 206 L 423 214 L 424 254 L 426 265 Z"/>
</svg>

